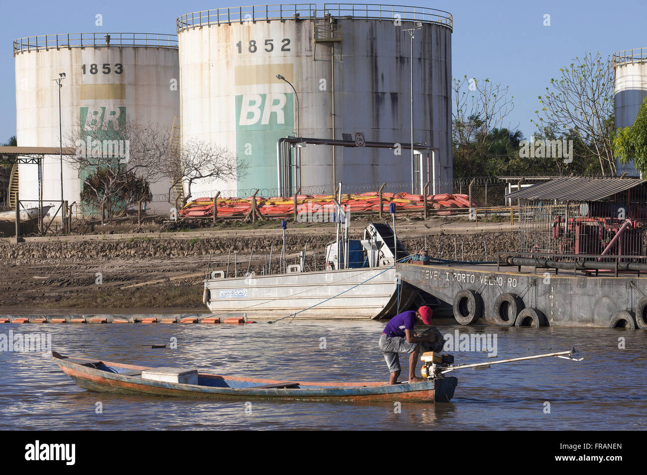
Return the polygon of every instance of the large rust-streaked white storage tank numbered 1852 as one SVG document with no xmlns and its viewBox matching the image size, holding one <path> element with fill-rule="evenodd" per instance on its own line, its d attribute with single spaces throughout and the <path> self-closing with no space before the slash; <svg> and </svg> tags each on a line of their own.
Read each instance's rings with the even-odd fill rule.
<svg viewBox="0 0 647 475">
<path fill-rule="evenodd" d="M 435 163 L 437 192 L 446 191 L 452 179 L 447 12 L 327 3 L 219 8 L 179 17 L 182 142 L 227 147 L 246 165 L 235 181 L 203 180 L 194 196 L 247 196 L 254 189 L 263 196 L 285 195 L 298 185 L 302 193 L 329 193 L 339 181 L 347 191 L 373 191 L 382 182 L 410 191 L 408 149 L 307 144 L 279 163 L 277 143 L 288 136 L 355 140 L 358 132 L 367 143 L 410 143 L 406 30 L 413 28 L 413 142 L 426 145 L 414 160 L 414 189 L 433 181 Z M 285 167 L 291 170 L 287 189 L 281 185 Z"/>
</svg>

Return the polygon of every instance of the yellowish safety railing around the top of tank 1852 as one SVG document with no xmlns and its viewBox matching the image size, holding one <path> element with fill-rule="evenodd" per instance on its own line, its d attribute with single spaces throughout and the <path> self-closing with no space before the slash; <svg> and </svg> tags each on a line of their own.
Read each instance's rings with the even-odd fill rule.
<svg viewBox="0 0 647 475">
<path fill-rule="evenodd" d="M 316 18 L 330 14 L 335 17 L 353 17 L 379 20 L 422 21 L 452 28 L 452 15 L 443 10 L 422 6 L 379 5 L 373 3 L 296 3 L 291 5 L 251 5 L 201 10 L 177 17 L 177 32 L 199 26 L 245 21 Z"/>
</svg>

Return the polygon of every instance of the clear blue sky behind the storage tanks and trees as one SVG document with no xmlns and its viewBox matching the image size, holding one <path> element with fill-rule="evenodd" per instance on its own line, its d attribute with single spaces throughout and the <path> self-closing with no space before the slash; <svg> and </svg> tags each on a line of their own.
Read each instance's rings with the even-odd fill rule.
<svg viewBox="0 0 647 475">
<path fill-rule="evenodd" d="M 510 125 L 529 136 L 531 123 L 551 77 L 584 52 L 647 47 L 645 0 L 465 0 L 403 2 L 450 12 L 454 17 L 452 74 L 490 78 L 509 85 L 514 96 Z M 98 0 L 27 3 L 0 0 L 0 142 L 16 133 L 16 94 L 12 41 L 23 36 L 85 32 L 175 33 L 175 18 L 210 8 L 238 6 L 232 1 Z M 320 3 L 320 6 L 323 4 Z M 102 14 L 104 25 L 94 25 Z M 545 14 L 551 26 L 543 26 Z M 28 145 L 28 144 L 22 144 Z"/>
</svg>

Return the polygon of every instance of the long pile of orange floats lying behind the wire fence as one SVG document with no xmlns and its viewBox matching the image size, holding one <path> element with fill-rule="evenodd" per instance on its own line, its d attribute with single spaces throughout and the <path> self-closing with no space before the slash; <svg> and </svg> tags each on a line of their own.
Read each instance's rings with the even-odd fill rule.
<svg viewBox="0 0 647 475">
<path fill-rule="evenodd" d="M 253 198 L 218 198 L 217 216 L 230 218 L 245 216 L 252 207 Z M 389 204 L 395 203 L 397 211 L 417 211 L 424 209 L 424 196 L 411 193 L 382 193 L 382 211 L 389 211 Z M 297 213 L 334 213 L 333 195 L 297 195 Z M 351 213 L 369 213 L 380 210 L 380 197 L 377 192 L 360 193 L 359 195 L 342 195 L 342 205 Z M 262 216 L 287 216 L 294 214 L 294 198 L 256 197 L 256 206 Z M 450 215 L 451 209 L 477 206 L 467 195 L 443 193 L 428 195 L 427 206 L 437 210 L 438 215 Z M 198 198 L 184 206 L 179 214 L 185 218 L 207 218 L 213 216 L 214 198 Z"/>
</svg>

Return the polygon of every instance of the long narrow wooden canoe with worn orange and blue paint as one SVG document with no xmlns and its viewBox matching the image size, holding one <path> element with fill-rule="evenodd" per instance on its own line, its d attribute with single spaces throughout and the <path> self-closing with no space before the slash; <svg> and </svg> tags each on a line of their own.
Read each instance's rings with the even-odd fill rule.
<svg viewBox="0 0 647 475">
<path fill-rule="evenodd" d="M 83 389 L 92 392 L 212 399 L 285 399 L 298 401 L 415 401 L 449 402 L 457 379 L 443 377 L 422 383 L 297 383 L 274 379 L 198 374 L 198 384 L 142 379 L 146 366 L 67 357 L 52 352 L 61 370 Z"/>
</svg>

